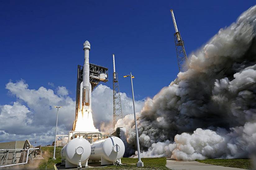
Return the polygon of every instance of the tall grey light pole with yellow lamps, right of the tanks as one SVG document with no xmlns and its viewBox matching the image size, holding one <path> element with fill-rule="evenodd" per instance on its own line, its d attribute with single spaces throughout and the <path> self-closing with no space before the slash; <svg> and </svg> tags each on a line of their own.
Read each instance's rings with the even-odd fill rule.
<svg viewBox="0 0 256 170">
<path fill-rule="evenodd" d="M 137 119 L 136 119 L 136 114 L 135 114 L 135 101 L 134 101 L 134 94 L 133 94 L 133 84 L 132 84 L 132 79 L 134 76 L 130 73 L 130 75 L 125 75 L 124 77 L 129 77 L 131 78 L 131 91 L 132 91 L 132 101 L 133 101 L 133 113 L 134 113 L 134 120 L 135 120 L 135 130 L 136 130 L 136 142 L 137 142 L 137 150 L 138 150 L 138 162 L 137 162 L 137 167 L 144 167 L 144 163 L 140 159 L 140 150 L 139 150 L 139 134 L 138 134 L 138 126 L 137 126 Z"/>
</svg>

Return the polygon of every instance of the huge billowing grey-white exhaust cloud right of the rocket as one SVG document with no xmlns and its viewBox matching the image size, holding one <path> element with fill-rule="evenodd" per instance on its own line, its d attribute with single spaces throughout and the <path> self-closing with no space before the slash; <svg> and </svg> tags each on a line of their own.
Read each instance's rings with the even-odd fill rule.
<svg viewBox="0 0 256 170">
<path fill-rule="evenodd" d="M 255 33 L 253 6 L 191 55 L 189 70 L 146 100 L 137 113 L 142 157 L 247 158 L 256 152 Z M 133 115 L 117 123 L 125 127 L 126 154 L 136 157 Z"/>
</svg>

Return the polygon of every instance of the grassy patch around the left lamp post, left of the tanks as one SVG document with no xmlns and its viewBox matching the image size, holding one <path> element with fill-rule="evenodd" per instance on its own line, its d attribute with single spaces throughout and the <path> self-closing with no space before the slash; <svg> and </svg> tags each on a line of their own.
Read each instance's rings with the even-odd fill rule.
<svg viewBox="0 0 256 170">
<path fill-rule="evenodd" d="M 56 160 L 53 160 L 53 150 L 54 147 L 42 147 L 43 151 L 47 151 L 48 154 L 43 155 L 43 160 L 39 164 L 40 170 L 45 170 L 45 167 L 47 165 L 47 170 L 54 170 L 53 165 L 57 163 L 61 163 L 61 149 L 62 147 L 56 147 L 55 151 L 55 158 Z"/>
</svg>

